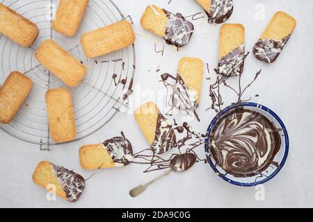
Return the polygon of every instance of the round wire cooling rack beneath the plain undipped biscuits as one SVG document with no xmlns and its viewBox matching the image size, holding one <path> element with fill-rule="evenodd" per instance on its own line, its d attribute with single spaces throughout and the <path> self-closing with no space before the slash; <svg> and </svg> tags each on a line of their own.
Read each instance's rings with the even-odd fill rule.
<svg viewBox="0 0 313 222">
<path fill-rule="evenodd" d="M 40 34 L 28 48 L 19 46 L 0 34 L 0 85 L 11 71 L 20 71 L 33 80 L 34 87 L 28 99 L 8 124 L 0 128 L 24 142 L 48 149 L 56 145 L 49 136 L 49 125 L 45 104 L 47 89 L 66 87 L 64 83 L 35 60 L 35 49 L 44 40 L 51 39 L 81 60 L 88 74 L 76 88 L 70 89 L 74 103 L 77 125 L 77 141 L 97 132 L 111 119 L 128 108 L 125 98 L 131 88 L 136 69 L 135 48 L 129 46 L 108 55 L 88 59 L 83 54 L 80 37 L 83 33 L 113 24 L 125 17 L 111 0 L 90 0 L 81 26 L 74 37 L 65 37 L 51 28 L 58 1 L 56 0 L 4 0 L 4 5 L 38 25 Z"/>
</svg>

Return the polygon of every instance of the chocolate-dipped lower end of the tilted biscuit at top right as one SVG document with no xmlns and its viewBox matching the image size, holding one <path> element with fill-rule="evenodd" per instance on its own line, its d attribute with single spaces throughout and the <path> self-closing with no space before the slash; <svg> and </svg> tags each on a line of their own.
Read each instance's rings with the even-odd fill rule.
<svg viewBox="0 0 313 222">
<path fill-rule="evenodd" d="M 289 38 L 290 35 L 282 40 L 259 39 L 253 48 L 253 53 L 258 60 L 268 63 L 275 62 Z"/>
</svg>

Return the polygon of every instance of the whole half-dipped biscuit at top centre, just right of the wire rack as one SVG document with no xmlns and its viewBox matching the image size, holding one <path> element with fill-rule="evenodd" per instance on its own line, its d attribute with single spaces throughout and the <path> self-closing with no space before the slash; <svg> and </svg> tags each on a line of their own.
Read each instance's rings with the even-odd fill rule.
<svg viewBox="0 0 313 222">
<path fill-rule="evenodd" d="M 188 44 L 194 27 L 182 14 L 176 15 L 157 6 L 147 6 L 141 17 L 141 26 L 163 37 L 166 43 L 182 47 Z"/>
</svg>

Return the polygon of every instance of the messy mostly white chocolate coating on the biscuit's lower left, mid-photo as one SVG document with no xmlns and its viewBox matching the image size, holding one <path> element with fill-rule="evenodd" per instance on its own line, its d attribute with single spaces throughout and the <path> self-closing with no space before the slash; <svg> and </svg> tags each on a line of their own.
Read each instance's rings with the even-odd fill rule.
<svg viewBox="0 0 313 222">
<path fill-rule="evenodd" d="M 175 80 L 175 83 L 170 83 L 168 79 L 171 78 Z M 179 110 L 185 110 L 188 114 L 188 110 L 191 110 L 195 117 L 200 121 L 198 114 L 195 109 L 198 108 L 199 103 L 198 92 L 193 89 L 188 89 L 186 83 L 184 82 L 182 76 L 177 74 L 176 78 L 170 74 L 162 74 L 161 79 L 166 87 L 170 87 L 172 94 L 170 96 L 170 107 L 175 107 Z M 172 109 L 171 109 L 172 110 Z"/>
</svg>

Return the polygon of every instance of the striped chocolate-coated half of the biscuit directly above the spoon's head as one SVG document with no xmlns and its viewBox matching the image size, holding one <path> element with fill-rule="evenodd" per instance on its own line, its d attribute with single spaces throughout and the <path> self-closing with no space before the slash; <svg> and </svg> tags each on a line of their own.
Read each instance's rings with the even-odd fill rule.
<svg viewBox="0 0 313 222">
<path fill-rule="evenodd" d="M 172 124 L 168 123 L 162 114 L 158 114 L 155 138 L 151 145 L 152 150 L 159 154 L 165 153 L 176 146 L 176 135 L 172 129 Z"/>
</svg>

